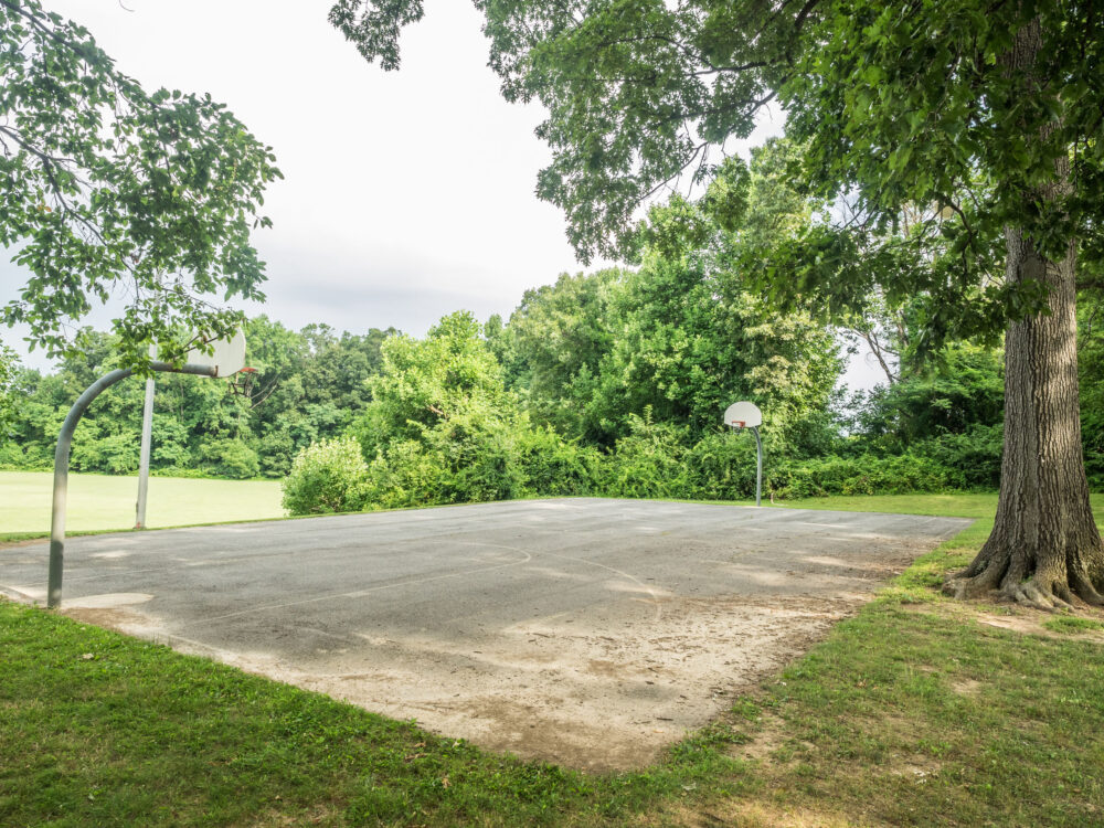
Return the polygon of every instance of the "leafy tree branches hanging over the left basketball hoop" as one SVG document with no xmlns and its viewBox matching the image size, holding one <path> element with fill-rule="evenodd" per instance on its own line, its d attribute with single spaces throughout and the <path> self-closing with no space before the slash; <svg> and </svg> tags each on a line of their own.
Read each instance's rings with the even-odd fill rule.
<svg viewBox="0 0 1104 828">
<path fill-rule="evenodd" d="M 209 95 L 148 94 L 83 26 L 0 0 L 0 244 L 31 272 L 0 319 L 32 347 L 73 352 L 66 323 L 113 294 L 125 364 L 179 328 L 230 332 L 240 315 L 208 297 L 263 298 L 250 234 L 274 161 Z"/>
</svg>

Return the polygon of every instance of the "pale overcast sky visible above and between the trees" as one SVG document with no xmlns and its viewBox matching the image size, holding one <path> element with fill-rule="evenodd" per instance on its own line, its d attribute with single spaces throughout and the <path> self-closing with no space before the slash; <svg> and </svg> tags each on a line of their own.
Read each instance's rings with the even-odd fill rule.
<svg viewBox="0 0 1104 828">
<path fill-rule="evenodd" d="M 508 317 L 526 289 L 583 269 L 563 215 L 533 194 L 550 158 L 533 135 L 543 110 L 502 100 L 469 2 L 427 0 L 393 73 L 329 24 L 330 0 L 125 4 L 45 0 L 147 91 L 209 92 L 275 150 L 285 180 L 266 194 L 274 227 L 255 236 L 268 300 L 243 306 L 251 315 L 421 336 L 460 308 Z M 0 300 L 24 279 L 0 258 Z M 87 321 L 106 326 L 109 311 Z M 25 355 L 20 336 L 0 330 Z M 45 368 L 40 353 L 25 363 Z M 878 380 L 861 358 L 846 379 Z"/>
</svg>

